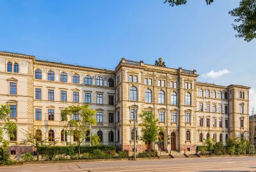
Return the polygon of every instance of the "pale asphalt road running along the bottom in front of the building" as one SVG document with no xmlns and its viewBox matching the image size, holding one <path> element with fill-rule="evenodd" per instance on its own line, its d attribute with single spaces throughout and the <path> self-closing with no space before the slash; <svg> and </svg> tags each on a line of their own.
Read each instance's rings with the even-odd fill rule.
<svg viewBox="0 0 256 172">
<path fill-rule="evenodd" d="M 40 171 L 256 171 L 256 157 L 211 157 L 144 161 L 76 162 L 2 166 L 0 172 Z"/>
</svg>

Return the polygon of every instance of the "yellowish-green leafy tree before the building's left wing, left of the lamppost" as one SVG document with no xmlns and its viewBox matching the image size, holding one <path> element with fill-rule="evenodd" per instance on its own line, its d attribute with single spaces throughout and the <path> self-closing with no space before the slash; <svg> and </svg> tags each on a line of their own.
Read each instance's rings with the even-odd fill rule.
<svg viewBox="0 0 256 172">
<path fill-rule="evenodd" d="M 95 113 L 97 111 L 91 110 L 88 104 L 83 106 L 69 106 L 61 111 L 61 117 L 67 122 L 67 133 L 76 138 L 78 147 L 78 157 L 80 158 L 81 144 L 86 136 L 86 132 L 90 131 L 90 125 L 96 125 Z M 69 118 L 68 118 L 69 117 Z"/>
</svg>

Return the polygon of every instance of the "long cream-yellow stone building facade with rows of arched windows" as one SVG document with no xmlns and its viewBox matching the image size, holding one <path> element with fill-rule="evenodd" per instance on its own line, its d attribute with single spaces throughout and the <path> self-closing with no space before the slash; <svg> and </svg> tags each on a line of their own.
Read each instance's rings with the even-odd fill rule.
<svg viewBox="0 0 256 172">
<path fill-rule="evenodd" d="M 64 134 L 60 114 L 84 103 L 97 111 L 92 134 L 100 136 L 102 145 L 120 150 L 132 151 L 134 120 L 140 124 L 141 111 L 152 111 L 163 127 L 163 144 L 154 145 L 163 150 L 193 151 L 205 138 L 225 143 L 230 136 L 248 137 L 250 87 L 200 83 L 195 70 L 123 58 L 111 71 L 0 52 L 0 76 L 0 104 L 10 104 L 10 118 L 18 126 L 15 138 L 4 136 L 13 154 L 24 151 L 19 143 L 29 128 L 57 145 L 76 143 Z M 140 136 L 140 126 L 136 133 Z M 138 140 L 137 150 L 145 148 Z"/>
</svg>

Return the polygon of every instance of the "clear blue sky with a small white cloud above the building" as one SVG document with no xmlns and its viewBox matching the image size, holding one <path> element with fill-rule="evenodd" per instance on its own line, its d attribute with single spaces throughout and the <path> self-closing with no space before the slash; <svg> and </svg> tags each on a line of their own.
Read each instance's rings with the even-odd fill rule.
<svg viewBox="0 0 256 172">
<path fill-rule="evenodd" d="M 196 69 L 198 81 L 252 87 L 256 108 L 256 39 L 236 38 L 228 11 L 238 0 L 0 0 L 0 50 L 37 59 L 115 69 L 122 57 Z"/>
</svg>

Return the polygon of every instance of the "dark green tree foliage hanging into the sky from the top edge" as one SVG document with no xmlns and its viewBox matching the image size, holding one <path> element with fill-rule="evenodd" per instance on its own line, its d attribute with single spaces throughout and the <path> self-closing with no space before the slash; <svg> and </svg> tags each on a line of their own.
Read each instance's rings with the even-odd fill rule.
<svg viewBox="0 0 256 172">
<path fill-rule="evenodd" d="M 206 4 L 213 3 L 214 0 L 205 0 Z M 169 3 L 170 6 L 179 6 L 186 4 L 187 0 L 165 0 L 164 3 Z M 236 17 L 232 24 L 233 28 L 238 32 L 236 37 L 244 38 L 244 41 L 252 41 L 256 38 L 256 1 L 241 0 L 239 7 L 228 12 L 232 17 Z"/>
</svg>

